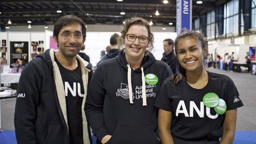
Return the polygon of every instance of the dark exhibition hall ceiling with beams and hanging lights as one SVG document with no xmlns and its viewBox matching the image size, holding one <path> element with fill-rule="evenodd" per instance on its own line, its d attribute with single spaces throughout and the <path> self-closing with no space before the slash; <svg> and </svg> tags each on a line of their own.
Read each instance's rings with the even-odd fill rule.
<svg viewBox="0 0 256 144">
<path fill-rule="evenodd" d="M 205 17 L 225 0 L 192 0 L 193 19 Z M 61 13 L 57 13 L 61 10 Z M 155 15 L 156 11 L 159 15 Z M 122 24 L 129 17 L 152 20 L 154 26 L 176 24 L 176 0 L 1 0 L 0 26 L 52 25 L 62 15 L 77 15 L 86 24 Z M 120 14 L 125 12 L 125 15 Z M 8 24 L 11 20 L 12 24 Z M 9 22 L 10 23 L 10 22 Z"/>
</svg>

